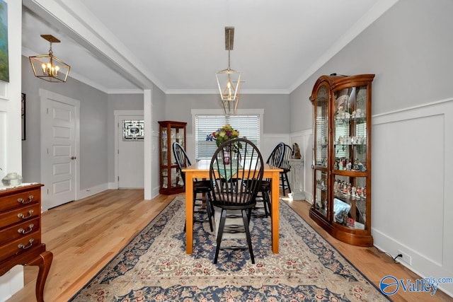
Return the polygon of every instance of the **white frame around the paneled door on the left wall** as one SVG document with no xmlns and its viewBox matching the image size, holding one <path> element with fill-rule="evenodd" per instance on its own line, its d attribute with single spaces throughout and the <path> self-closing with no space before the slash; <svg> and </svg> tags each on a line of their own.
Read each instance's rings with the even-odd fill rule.
<svg viewBox="0 0 453 302">
<path fill-rule="evenodd" d="M 47 175 L 51 175 L 52 173 L 47 173 L 45 169 L 49 169 L 51 167 L 48 167 L 46 165 L 46 160 L 45 158 L 47 157 L 47 147 L 45 146 L 45 122 L 43 122 L 47 118 L 47 99 L 52 99 L 56 100 L 58 102 L 74 106 L 75 108 L 75 129 L 74 129 L 74 139 L 75 139 L 75 151 L 76 154 L 74 156 L 78 157 L 80 154 L 80 118 L 79 118 L 79 113 L 80 113 L 80 100 L 76 100 L 74 98 L 68 98 L 67 96 L 60 95 L 58 93 L 54 93 L 52 91 L 47 91 L 45 89 L 40 88 L 39 90 L 39 95 L 40 95 L 40 161 L 41 161 L 41 180 L 42 184 L 48 184 L 51 181 L 47 179 Z M 74 187 L 74 194 L 75 194 L 75 199 L 79 196 L 79 186 L 80 186 L 80 161 L 76 161 L 75 163 L 75 187 Z M 42 194 L 42 210 L 47 211 L 48 209 L 48 204 L 46 202 L 46 197 L 49 194 L 49 190 L 46 187 L 42 188 L 43 194 Z"/>
</svg>

